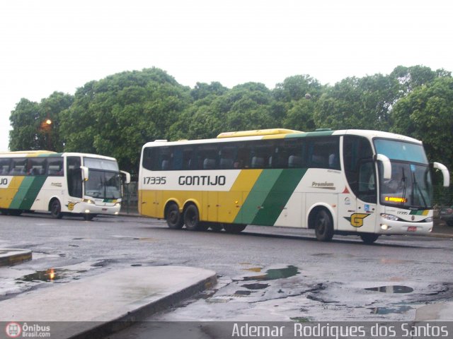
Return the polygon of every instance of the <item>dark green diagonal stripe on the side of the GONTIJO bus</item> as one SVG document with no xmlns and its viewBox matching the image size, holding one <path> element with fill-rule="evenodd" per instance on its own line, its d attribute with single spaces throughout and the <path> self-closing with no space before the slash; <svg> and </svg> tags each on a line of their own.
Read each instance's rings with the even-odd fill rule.
<svg viewBox="0 0 453 339">
<path fill-rule="evenodd" d="M 305 172 L 306 168 L 283 169 L 251 224 L 274 225 Z"/>
</svg>

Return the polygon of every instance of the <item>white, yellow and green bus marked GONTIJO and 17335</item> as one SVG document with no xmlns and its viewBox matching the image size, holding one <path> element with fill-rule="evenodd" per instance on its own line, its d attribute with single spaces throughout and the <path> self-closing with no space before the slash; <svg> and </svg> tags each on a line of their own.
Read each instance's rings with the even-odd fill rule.
<svg viewBox="0 0 453 339">
<path fill-rule="evenodd" d="M 139 213 L 171 228 L 314 229 L 317 239 L 432 230 L 430 167 L 420 141 L 381 131 L 285 129 L 154 141 L 142 148 Z"/>
</svg>

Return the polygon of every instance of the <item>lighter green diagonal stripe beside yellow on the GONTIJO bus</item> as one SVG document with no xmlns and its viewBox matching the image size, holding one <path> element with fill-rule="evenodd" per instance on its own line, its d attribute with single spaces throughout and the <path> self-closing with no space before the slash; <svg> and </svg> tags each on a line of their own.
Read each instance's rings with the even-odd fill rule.
<svg viewBox="0 0 453 339">
<path fill-rule="evenodd" d="M 251 224 L 282 171 L 283 169 L 265 169 L 261 172 L 236 215 L 234 223 Z"/>
</svg>

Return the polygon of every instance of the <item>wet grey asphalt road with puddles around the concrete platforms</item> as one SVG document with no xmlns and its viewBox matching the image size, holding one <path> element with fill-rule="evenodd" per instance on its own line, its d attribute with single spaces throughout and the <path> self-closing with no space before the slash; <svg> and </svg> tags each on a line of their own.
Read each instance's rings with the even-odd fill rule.
<svg viewBox="0 0 453 339">
<path fill-rule="evenodd" d="M 153 321 L 411 321 L 423 304 L 453 297 L 447 238 L 393 236 L 365 245 L 336 236 L 322 243 L 311 230 L 249 226 L 225 234 L 170 230 L 146 218 L 28 214 L 0 216 L 6 247 L 31 249 L 33 261 L 0 271 L 1 299 L 128 266 L 217 272 L 214 290 Z M 137 337 L 147 326 L 127 331 L 115 338 Z"/>
</svg>

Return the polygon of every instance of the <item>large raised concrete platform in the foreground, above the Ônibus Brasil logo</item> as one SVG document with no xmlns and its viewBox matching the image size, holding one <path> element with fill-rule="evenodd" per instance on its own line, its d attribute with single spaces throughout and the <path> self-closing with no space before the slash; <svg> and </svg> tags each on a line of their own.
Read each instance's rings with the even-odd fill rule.
<svg viewBox="0 0 453 339">
<path fill-rule="evenodd" d="M 45 322 L 52 338 L 103 338 L 216 283 L 202 268 L 122 268 L 6 299 L 0 321 Z"/>
</svg>

